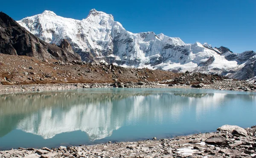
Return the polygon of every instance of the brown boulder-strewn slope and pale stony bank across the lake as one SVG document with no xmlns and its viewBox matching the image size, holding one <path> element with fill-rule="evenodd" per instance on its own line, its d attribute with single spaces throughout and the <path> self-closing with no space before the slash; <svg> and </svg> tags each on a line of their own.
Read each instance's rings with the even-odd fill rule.
<svg viewBox="0 0 256 158">
<path fill-rule="evenodd" d="M 104 62 L 63 62 L 0 54 L 0 93 L 77 88 L 201 88 L 256 92 L 256 78 L 131 69 Z"/>
</svg>

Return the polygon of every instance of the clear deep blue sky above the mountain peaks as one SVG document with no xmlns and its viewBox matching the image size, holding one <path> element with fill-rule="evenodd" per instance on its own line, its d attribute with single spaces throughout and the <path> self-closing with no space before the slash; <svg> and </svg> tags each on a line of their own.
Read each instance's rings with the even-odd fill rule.
<svg viewBox="0 0 256 158">
<path fill-rule="evenodd" d="M 83 19 L 91 9 L 112 14 L 126 30 L 207 42 L 233 52 L 256 51 L 256 0 L 2 0 L 15 20 L 50 10 Z"/>
</svg>

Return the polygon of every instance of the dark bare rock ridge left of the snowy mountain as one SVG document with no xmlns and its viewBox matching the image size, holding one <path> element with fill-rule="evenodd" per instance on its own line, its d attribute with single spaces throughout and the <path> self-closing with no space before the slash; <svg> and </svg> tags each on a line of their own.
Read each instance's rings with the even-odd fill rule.
<svg viewBox="0 0 256 158">
<path fill-rule="evenodd" d="M 63 40 L 58 47 L 38 39 L 7 14 L 0 12 L 0 53 L 26 55 L 41 60 L 81 60 L 70 48 L 67 40 Z"/>
</svg>

